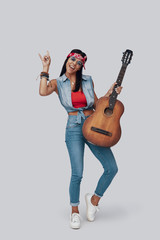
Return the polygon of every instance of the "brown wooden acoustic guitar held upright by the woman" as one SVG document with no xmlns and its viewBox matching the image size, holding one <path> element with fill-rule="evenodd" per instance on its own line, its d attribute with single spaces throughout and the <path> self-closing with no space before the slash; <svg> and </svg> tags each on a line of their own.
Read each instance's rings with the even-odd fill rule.
<svg viewBox="0 0 160 240">
<path fill-rule="evenodd" d="M 83 124 L 82 132 L 84 137 L 94 145 L 111 147 L 121 137 L 120 118 L 124 112 L 124 105 L 117 100 L 118 94 L 115 88 L 121 86 L 132 56 L 133 52 L 129 49 L 123 53 L 122 67 L 112 94 L 109 97 L 104 96 L 98 99 L 94 113 Z"/>
</svg>

